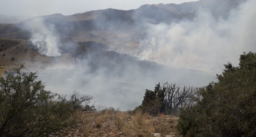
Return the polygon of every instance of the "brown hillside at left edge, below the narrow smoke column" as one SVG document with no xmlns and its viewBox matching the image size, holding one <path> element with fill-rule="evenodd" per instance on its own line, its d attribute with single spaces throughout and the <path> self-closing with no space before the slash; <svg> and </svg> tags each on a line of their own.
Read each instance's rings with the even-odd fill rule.
<svg viewBox="0 0 256 137">
<path fill-rule="evenodd" d="M 18 63 L 25 63 L 28 68 L 40 70 L 44 66 L 50 66 L 55 61 L 53 57 L 42 56 L 30 45 L 27 40 L 13 40 L 0 38 L 0 75 Z M 74 58 L 66 53 L 56 61 L 74 62 Z"/>
</svg>

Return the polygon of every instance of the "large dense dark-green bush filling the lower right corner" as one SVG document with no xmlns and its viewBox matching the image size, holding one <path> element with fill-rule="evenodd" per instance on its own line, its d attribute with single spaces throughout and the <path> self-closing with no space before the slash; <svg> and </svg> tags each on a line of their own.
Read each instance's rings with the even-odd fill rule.
<svg viewBox="0 0 256 137">
<path fill-rule="evenodd" d="M 181 111 L 184 137 L 256 136 L 256 53 L 240 55 L 238 67 L 224 66 L 218 82 L 200 88 L 196 104 Z"/>
</svg>

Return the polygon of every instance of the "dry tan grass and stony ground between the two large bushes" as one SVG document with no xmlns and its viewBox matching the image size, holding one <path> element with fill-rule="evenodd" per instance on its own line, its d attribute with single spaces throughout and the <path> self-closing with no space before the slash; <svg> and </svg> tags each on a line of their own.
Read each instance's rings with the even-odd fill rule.
<svg viewBox="0 0 256 137">
<path fill-rule="evenodd" d="M 179 137 L 176 131 L 177 117 L 152 117 L 137 111 L 129 114 L 121 111 L 85 112 L 80 118 L 80 126 L 69 137 Z M 158 137 L 158 136 L 157 136 Z"/>
</svg>

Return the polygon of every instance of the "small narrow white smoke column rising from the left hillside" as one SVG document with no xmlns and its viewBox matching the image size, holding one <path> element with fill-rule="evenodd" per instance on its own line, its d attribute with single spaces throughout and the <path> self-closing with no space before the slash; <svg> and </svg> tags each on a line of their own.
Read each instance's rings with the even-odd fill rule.
<svg viewBox="0 0 256 137">
<path fill-rule="evenodd" d="M 30 31 L 32 44 L 37 52 L 49 57 L 58 57 L 62 53 L 59 50 L 59 36 L 54 24 L 45 24 L 43 16 L 28 20 L 25 29 Z"/>
</svg>

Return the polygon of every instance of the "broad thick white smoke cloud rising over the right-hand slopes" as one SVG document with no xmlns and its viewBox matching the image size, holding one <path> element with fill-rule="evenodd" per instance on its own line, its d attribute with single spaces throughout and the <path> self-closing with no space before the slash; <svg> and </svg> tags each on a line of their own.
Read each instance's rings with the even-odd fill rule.
<svg viewBox="0 0 256 137">
<path fill-rule="evenodd" d="M 248 0 L 217 20 L 199 9 L 193 20 L 148 24 L 140 47 L 129 54 L 169 66 L 220 73 L 226 62 L 238 65 L 243 51 L 256 51 L 256 5 Z"/>
</svg>

